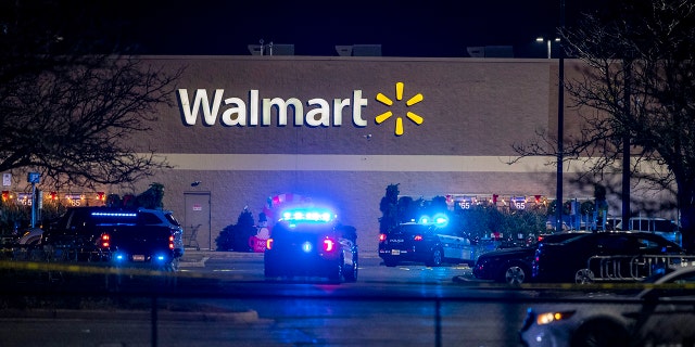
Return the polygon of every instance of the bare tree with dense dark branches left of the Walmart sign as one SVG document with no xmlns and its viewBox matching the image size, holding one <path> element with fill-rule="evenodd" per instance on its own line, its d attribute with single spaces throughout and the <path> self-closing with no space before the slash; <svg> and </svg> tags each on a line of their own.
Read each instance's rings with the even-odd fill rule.
<svg viewBox="0 0 695 347">
<path fill-rule="evenodd" d="M 117 23 L 79 2 L 0 3 L 0 171 L 37 170 L 56 185 L 132 182 L 168 167 L 134 136 L 150 130 L 180 73 L 118 54 Z"/>
</svg>

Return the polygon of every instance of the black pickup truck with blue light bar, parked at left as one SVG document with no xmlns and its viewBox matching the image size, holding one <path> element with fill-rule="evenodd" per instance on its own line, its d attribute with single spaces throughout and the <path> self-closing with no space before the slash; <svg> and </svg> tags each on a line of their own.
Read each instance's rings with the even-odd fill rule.
<svg viewBox="0 0 695 347">
<path fill-rule="evenodd" d="M 52 259 L 176 270 L 182 233 L 166 210 L 74 207 L 49 226 L 41 245 Z"/>
</svg>

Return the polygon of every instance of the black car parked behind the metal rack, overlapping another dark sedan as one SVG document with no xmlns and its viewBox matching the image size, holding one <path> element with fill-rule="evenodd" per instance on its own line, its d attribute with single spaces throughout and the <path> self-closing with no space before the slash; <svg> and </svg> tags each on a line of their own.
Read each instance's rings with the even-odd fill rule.
<svg viewBox="0 0 695 347">
<path fill-rule="evenodd" d="M 685 252 L 653 233 L 587 233 L 540 244 L 532 273 L 533 280 L 540 282 L 636 281 L 648 277 L 659 266 L 657 260 L 669 259 L 669 256 L 678 260 Z"/>
</svg>

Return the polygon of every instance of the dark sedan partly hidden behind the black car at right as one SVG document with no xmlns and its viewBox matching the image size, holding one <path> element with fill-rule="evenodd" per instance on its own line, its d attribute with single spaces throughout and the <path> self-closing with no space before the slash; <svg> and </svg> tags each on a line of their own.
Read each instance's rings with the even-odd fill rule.
<svg viewBox="0 0 695 347">
<path fill-rule="evenodd" d="M 539 236 L 539 241 L 529 247 L 504 248 L 488 252 L 478 257 L 472 268 L 473 275 L 479 280 L 496 281 L 509 285 L 519 285 L 531 280 L 531 267 L 535 248 L 543 242 L 560 242 L 581 232 L 560 232 Z"/>
</svg>

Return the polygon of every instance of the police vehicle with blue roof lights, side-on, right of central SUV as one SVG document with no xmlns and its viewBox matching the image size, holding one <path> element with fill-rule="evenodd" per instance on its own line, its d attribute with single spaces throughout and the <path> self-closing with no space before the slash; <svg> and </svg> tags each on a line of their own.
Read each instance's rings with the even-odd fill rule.
<svg viewBox="0 0 695 347">
<path fill-rule="evenodd" d="M 442 262 L 476 261 L 470 240 L 446 228 L 444 220 L 402 223 L 391 232 L 379 235 L 379 257 L 387 267 L 402 261 L 425 262 L 437 267 Z"/>
</svg>

